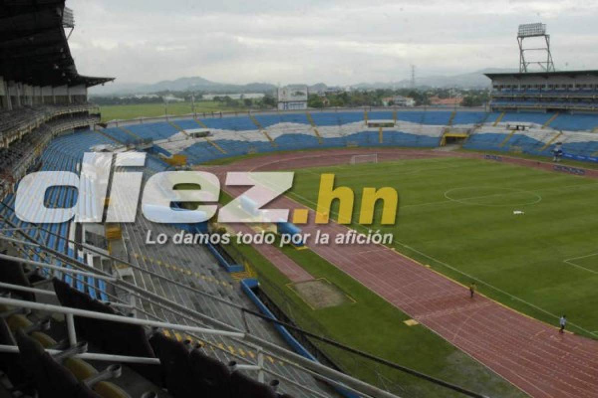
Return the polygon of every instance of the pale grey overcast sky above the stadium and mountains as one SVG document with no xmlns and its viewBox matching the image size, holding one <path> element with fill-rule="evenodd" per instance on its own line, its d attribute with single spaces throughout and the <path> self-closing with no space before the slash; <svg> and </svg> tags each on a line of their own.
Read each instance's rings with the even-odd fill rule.
<svg viewBox="0 0 598 398">
<path fill-rule="evenodd" d="M 399 81 L 518 67 L 542 21 L 557 69 L 598 68 L 595 0 L 67 0 L 78 71 L 151 83 Z"/>
</svg>

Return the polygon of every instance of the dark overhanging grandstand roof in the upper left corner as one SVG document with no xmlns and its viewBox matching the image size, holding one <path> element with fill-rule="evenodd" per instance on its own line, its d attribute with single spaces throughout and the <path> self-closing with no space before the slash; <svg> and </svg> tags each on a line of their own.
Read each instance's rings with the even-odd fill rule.
<svg viewBox="0 0 598 398">
<path fill-rule="evenodd" d="M 65 0 L 6 0 L 0 7 L 0 76 L 30 85 L 87 87 L 114 78 L 77 72 L 63 28 Z"/>
</svg>

